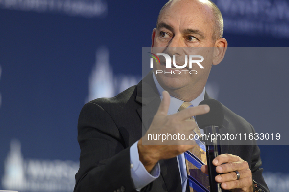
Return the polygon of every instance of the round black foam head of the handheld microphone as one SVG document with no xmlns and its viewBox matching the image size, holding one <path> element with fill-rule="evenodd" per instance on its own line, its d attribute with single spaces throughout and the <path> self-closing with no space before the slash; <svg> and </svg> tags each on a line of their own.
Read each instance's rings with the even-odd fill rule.
<svg viewBox="0 0 289 192">
<path fill-rule="evenodd" d="M 215 99 L 206 99 L 200 102 L 199 105 L 209 105 L 210 111 L 209 113 L 203 115 L 197 115 L 196 121 L 200 129 L 204 129 L 208 126 L 218 126 L 222 127 L 224 121 L 224 112 L 222 104 Z"/>
</svg>

